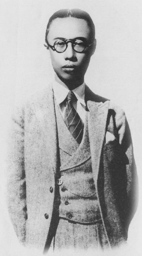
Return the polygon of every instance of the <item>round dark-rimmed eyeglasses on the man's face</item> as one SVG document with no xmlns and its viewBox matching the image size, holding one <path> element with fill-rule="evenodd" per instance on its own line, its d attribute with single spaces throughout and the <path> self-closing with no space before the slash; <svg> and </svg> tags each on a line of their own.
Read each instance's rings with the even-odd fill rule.
<svg viewBox="0 0 142 256">
<path fill-rule="evenodd" d="M 83 52 L 86 47 L 91 46 L 94 42 L 91 43 L 91 44 L 86 44 L 85 42 L 83 42 L 82 40 L 79 40 L 79 39 L 76 39 L 76 40 L 71 40 L 71 39 L 62 40 L 62 39 L 59 39 L 59 40 L 55 41 L 54 45 L 52 46 L 47 41 L 47 45 L 53 51 L 56 51 L 56 52 L 59 52 L 59 53 L 65 52 L 65 50 L 67 49 L 68 43 L 72 44 L 73 50 L 75 52 Z M 45 44 L 44 44 L 44 46 L 47 47 Z"/>
</svg>

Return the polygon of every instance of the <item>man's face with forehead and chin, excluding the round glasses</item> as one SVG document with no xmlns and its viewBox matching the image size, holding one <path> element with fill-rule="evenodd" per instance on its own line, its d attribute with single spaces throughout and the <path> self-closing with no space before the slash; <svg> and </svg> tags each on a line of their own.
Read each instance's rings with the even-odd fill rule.
<svg viewBox="0 0 142 256">
<path fill-rule="evenodd" d="M 90 40 L 91 30 L 86 20 L 73 17 L 56 18 L 51 23 L 47 36 L 49 44 L 53 46 L 55 41 L 61 38 L 64 40 L 80 38 L 84 39 L 87 44 L 92 43 Z M 49 48 L 52 66 L 57 76 L 63 82 L 75 80 L 83 82 L 93 50 L 95 50 L 95 44 L 93 47 L 85 48 L 82 53 L 75 52 L 71 42 L 67 44 L 67 49 L 62 53 Z"/>
</svg>

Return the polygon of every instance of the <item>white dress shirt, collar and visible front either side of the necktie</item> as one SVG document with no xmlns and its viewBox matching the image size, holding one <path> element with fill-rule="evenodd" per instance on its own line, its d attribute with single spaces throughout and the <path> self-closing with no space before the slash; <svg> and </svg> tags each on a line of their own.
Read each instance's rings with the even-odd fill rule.
<svg viewBox="0 0 142 256">
<path fill-rule="evenodd" d="M 55 100 L 57 105 L 59 106 L 59 110 L 61 115 L 65 119 L 65 98 L 69 93 L 69 88 L 61 81 L 59 78 L 55 76 L 55 79 L 52 82 L 53 92 L 55 96 Z M 82 122 L 85 122 L 85 114 L 86 114 L 86 104 L 85 104 L 85 82 L 73 89 L 75 96 L 77 97 L 77 102 L 73 102 L 73 107 L 79 114 Z"/>
</svg>

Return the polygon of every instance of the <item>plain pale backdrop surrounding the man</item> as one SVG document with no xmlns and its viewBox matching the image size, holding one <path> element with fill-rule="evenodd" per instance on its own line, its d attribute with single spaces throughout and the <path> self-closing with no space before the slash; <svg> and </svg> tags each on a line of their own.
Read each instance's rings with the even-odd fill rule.
<svg viewBox="0 0 142 256">
<path fill-rule="evenodd" d="M 85 82 L 96 94 L 121 106 L 130 125 L 140 184 L 139 207 L 130 224 L 128 245 L 115 254 L 141 255 L 141 0 L 1 0 L 0 255 L 36 255 L 34 252 L 28 254 L 21 251 L 8 217 L 5 175 L 7 130 L 15 102 L 21 102 L 30 94 L 40 91 L 53 79 L 49 52 L 43 44 L 49 17 L 62 8 L 80 8 L 92 17 L 96 27 L 97 47 L 85 75 Z"/>
</svg>

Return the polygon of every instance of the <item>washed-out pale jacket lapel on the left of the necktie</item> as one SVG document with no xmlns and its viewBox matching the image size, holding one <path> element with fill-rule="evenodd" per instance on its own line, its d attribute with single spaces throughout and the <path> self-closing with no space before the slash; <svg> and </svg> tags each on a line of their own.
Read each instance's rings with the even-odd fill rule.
<svg viewBox="0 0 142 256">
<path fill-rule="evenodd" d="M 48 166 L 51 170 L 54 169 L 56 173 L 58 157 L 58 136 L 57 136 L 57 125 L 55 117 L 55 106 L 52 86 L 46 89 L 42 99 L 34 104 L 35 114 L 39 126 L 41 127 L 45 144 L 47 145 L 47 161 Z"/>
</svg>

